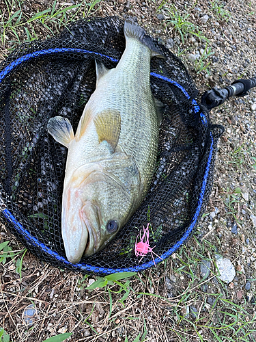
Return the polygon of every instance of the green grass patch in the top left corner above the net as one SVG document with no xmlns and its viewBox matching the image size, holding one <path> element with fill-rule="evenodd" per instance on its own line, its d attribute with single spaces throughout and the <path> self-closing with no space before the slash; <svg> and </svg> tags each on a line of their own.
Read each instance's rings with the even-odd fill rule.
<svg viewBox="0 0 256 342">
<path fill-rule="evenodd" d="M 51 8 L 32 12 L 28 16 L 23 8 L 23 0 L 3 0 L 6 11 L 0 10 L 0 42 L 2 49 L 12 51 L 22 42 L 49 38 L 58 34 L 63 27 L 77 20 L 95 15 L 101 0 L 82 0 L 76 5 L 59 5 L 55 0 Z M 30 11 L 29 11 L 30 12 Z"/>
</svg>

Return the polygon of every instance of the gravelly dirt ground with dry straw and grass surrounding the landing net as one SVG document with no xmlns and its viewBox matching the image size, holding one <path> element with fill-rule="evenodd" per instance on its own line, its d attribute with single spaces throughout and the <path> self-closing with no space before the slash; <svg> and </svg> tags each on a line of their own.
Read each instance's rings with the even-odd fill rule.
<svg viewBox="0 0 256 342">
<path fill-rule="evenodd" d="M 26 18 L 53 5 L 17 3 Z M 0 9 L 3 20 L 8 16 L 5 1 Z M 149 34 L 182 59 L 201 94 L 256 76 L 255 1 L 108 0 L 95 3 L 90 13 L 113 14 L 137 16 Z M 51 36 L 43 25 L 34 28 L 38 38 Z M 61 25 L 51 29 L 56 33 Z M 26 31 L 18 32 L 22 42 Z M 3 60 L 17 42 L 11 30 L 1 34 Z M 210 116 L 225 133 L 218 144 L 210 202 L 195 237 L 167 261 L 132 277 L 124 291 L 115 284 L 86 290 L 95 276 L 56 269 L 29 252 L 20 278 L 17 260 L 23 254 L 5 263 L 0 254 L 0 328 L 10 341 L 42 342 L 66 332 L 72 332 L 67 340 L 72 342 L 256 341 L 256 88 L 231 98 Z M 4 226 L 0 230 L 0 244 L 10 241 L 14 252 L 23 250 Z M 216 254 L 235 268 L 229 283 L 218 278 Z M 206 262 L 208 274 L 202 270 Z M 29 326 L 24 311 L 32 303 L 36 313 Z"/>
</svg>

